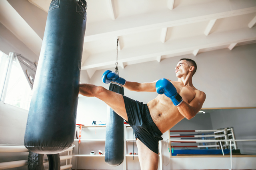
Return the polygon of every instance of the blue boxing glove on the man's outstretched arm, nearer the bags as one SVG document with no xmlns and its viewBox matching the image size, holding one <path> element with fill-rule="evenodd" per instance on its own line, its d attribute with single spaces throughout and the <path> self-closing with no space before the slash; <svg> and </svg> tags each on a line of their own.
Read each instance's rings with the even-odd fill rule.
<svg viewBox="0 0 256 170">
<path fill-rule="evenodd" d="M 115 72 L 112 72 L 111 70 L 106 70 L 101 77 L 102 82 L 108 84 L 113 83 L 117 84 L 118 86 L 121 86 L 125 84 L 126 80 L 122 77 L 119 77 L 118 74 Z"/>
</svg>

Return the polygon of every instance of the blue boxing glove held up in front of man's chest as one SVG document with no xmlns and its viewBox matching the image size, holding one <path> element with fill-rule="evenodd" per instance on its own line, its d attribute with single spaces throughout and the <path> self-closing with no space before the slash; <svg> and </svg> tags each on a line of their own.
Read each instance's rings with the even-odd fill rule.
<svg viewBox="0 0 256 170">
<path fill-rule="evenodd" d="M 174 106 L 179 106 L 183 101 L 180 94 L 177 93 L 177 90 L 174 87 L 174 85 L 165 78 L 161 78 L 156 82 L 156 92 L 158 94 L 165 94 L 165 96 L 172 100 Z"/>
</svg>

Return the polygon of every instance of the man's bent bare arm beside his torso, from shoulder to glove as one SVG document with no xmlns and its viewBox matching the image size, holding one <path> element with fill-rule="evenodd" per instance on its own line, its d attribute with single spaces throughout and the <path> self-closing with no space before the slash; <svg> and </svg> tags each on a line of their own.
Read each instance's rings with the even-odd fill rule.
<svg viewBox="0 0 256 170">
<path fill-rule="evenodd" d="M 179 106 L 177 106 L 177 108 L 180 114 L 186 117 L 186 119 L 192 119 L 202 108 L 205 98 L 206 94 L 204 92 L 198 91 L 196 92 L 196 96 L 190 102 L 190 104 L 187 104 L 185 101 L 183 101 Z"/>
</svg>

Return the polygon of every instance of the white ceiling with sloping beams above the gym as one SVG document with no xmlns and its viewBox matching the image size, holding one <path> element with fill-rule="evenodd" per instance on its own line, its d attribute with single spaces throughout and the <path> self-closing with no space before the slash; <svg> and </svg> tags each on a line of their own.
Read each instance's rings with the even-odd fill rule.
<svg viewBox="0 0 256 170">
<path fill-rule="evenodd" d="M 256 43 L 256 0 L 86 0 L 82 70 Z M 0 22 L 37 57 L 51 0 L 0 0 Z M 26 56 L 24 56 L 26 57 Z"/>
</svg>

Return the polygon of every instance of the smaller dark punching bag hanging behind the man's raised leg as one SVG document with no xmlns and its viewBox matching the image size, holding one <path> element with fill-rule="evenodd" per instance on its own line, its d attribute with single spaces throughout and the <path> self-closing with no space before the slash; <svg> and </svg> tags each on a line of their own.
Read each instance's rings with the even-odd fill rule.
<svg viewBox="0 0 256 170">
<path fill-rule="evenodd" d="M 109 90 L 124 95 L 124 88 L 110 84 Z M 118 166 L 124 161 L 124 119 L 110 108 L 106 123 L 105 162 Z"/>
</svg>

